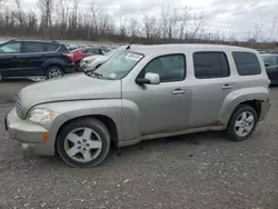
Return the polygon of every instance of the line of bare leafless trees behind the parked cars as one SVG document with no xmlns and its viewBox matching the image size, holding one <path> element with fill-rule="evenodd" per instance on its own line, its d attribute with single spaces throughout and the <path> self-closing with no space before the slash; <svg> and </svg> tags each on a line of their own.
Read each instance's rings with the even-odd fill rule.
<svg viewBox="0 0 278 209">
<path fill-rule="evenodd" d="M 0 36 L 32 37 L 51 40 L 88 40 L 139 43 L 212 42 L 246 44 L 236 39 L 206 32 L 209 14 L 192 12 L 188 7 L 161 7 L 156 14 L 115 21 L 103 6 L 91 1 L 81 8 L 80 0 L 37 0 L 36 10 L 24 10 L 24 0 L 0 0 Z M 256 37 L 249 44 L 257 42 Z"/>
</svg>

